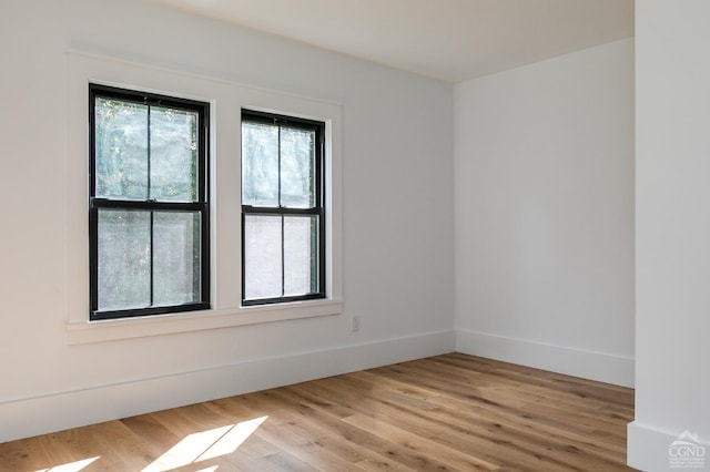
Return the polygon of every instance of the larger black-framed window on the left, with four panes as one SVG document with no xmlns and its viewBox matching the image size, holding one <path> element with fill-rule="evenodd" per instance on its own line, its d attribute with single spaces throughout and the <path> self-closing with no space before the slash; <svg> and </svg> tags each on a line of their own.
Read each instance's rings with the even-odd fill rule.
<svg viewBox="0 0 710 472">
<path fill-rule="evenodd" d="M 91 320 L 210 308 L 209 116 L 89 86 Z"/>
</svg>

